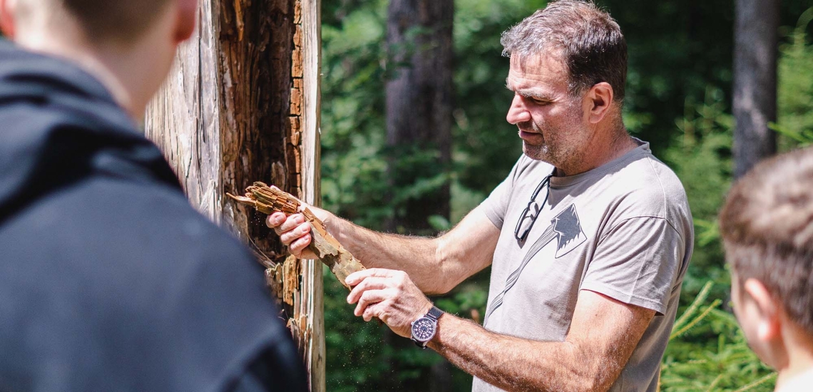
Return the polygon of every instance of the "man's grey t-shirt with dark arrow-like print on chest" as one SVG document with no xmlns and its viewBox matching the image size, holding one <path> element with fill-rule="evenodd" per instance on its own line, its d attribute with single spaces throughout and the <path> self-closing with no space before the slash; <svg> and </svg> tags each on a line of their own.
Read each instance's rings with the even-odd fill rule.
<svg viewBox="0 0 813 392">
<path fill-rule="evenodd" d="M 683 185 L 649 143 L 600 168 L 550 178 L 525 242 L 515 227 L 552 171 L 523 155 L 481 204 L 497 226 L 484 325 L 496 333 L 563 342 L 579 290 L 656 311 L 611 391 L 654 391 L 675 320 L 694 230 Z M 532 207 L 532 213 L 533 213 Z M 472 390 L 498 390 L 475 377 Z"/>
</svg>

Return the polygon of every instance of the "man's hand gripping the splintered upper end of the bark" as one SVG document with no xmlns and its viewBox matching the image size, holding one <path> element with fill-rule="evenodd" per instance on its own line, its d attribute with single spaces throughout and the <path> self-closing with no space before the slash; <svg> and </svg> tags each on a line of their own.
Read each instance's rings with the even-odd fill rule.
<svg viewBox="0 0 813 392">
<path fill-rule="evenodd" d="M 307 204 L 302 204 L 301 209 L 305 207 L 311 210 L 326 226 L 328 219 L 333 216 L 328 211 Z M 307 222 L 302 213 L 286 216 L 283 212 L 274 212 L 266 218 L 265 224 L 280 236 L 282 243 L 289 247 L 291 255 L 299 259 L 318 259 L 311 250 L 307 249 L 312 239 L 311 224 Z"/>
</svg>

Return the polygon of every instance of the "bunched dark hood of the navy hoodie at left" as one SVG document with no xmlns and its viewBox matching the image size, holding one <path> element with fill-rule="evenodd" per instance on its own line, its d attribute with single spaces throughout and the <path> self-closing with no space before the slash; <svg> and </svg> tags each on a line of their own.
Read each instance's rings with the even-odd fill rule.
<svg viewBox="0 0 813 392">
<path fill-rule="evenodd" d="M 160 150 L 98 80 L 0 40 L 0 223 L 89 176 L 180 191 Z"/>
</svg>

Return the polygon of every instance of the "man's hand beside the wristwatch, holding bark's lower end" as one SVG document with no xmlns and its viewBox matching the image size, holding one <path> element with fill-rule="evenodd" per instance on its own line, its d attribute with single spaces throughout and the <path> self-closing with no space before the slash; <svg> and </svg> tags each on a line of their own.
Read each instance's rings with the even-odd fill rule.
<svg viewBox="0 0 813 392">
<path fill-rule="evenodd" d="M 365 321 L 377 317 L 404 338 L 411 336 L 412 321 L 432 307 L 432 302 L 406 272 L 370 268 L 350 274 L 345 281 L 350 287 L 355 286 L 347 296 L 347 303 L 359 303 L 353 312 L 355 316 L 363 316 Z"/>
</svg>

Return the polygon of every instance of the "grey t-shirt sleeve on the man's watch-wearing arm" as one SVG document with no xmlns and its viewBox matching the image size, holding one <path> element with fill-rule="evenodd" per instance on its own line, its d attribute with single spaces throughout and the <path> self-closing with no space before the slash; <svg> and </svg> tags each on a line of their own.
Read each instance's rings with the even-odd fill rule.
<svg viewBox="0 0 813 392">
<path fill-rule="evenodd" d="M 623 220 L 599 238 L 581 290 L 663 315 L 684 253 L 680 233 L 666 219 Z"/>
</svg>

